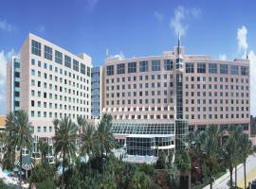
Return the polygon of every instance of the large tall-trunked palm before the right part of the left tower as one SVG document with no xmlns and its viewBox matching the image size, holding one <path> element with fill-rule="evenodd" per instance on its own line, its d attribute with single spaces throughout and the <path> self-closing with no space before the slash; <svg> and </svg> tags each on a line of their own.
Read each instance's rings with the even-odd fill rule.
<svg viewBox="0 0 256 189">
<path fill-rule="evenodd" d="M 65 161 L 73 160 L 76 156 L 77 130 L 77 126 L 68 117 L 64 117 L 64 119 L 59 122 L 57 130 L 55 130 L 55 154 L 63 154 L 62 188 L 64 188 Z"/>
</svg>

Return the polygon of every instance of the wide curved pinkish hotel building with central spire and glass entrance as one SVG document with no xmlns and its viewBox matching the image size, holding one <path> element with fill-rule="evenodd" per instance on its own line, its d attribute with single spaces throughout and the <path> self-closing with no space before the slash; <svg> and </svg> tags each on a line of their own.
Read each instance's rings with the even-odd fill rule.
<svg viewBox="0 0 256 189">
<path fill-rule="evenodd" d="M 177 143 L 179 134 L 188 133 L 182 122 L 190 130 L 237 125 L 249 133 L 249 60 L 186 55 L 178 43 L 160 56 L 108 58 L 103 75 L 102 112 L 113 115 L 115 136 L 131 148 L 128 154 L 145 153 L 131 142 L 144 137 L 152 139 L 151 149 L 173 148 L 174 137 Z M 167 143 L 155 143 L 159 137 Z"/>
</svg>

